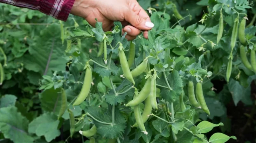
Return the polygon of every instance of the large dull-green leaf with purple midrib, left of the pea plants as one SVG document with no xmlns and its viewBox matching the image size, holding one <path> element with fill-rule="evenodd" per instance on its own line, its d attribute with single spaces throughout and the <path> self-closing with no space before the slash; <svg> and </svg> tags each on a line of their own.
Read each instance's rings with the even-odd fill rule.
<svg viewBox="0 0 256 143">
<path fill-rule="evenodd" d="M 52 71 L 65 71 L 66 62 L 63 58 L 66 47 L 62 46 L 59 24 L 53 23 L 41 31 L 33 44 L 29 47 L 29 53 L 21 57 L 21 62 L 27 70 L 44 74 L 47 62 L 47 75 Z"/>
</svg>

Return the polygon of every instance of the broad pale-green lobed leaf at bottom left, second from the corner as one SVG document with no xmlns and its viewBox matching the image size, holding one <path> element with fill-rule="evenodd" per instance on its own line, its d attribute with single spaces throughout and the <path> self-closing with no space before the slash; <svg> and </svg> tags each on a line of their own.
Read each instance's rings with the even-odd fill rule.
<svg viewBox="0 0 256 143">
<path fill-rule="evenodd" d="M 29 133 L 36 134 L 37 136 L 44 136 L 47 142 L 52 141 L 60 135 L 58 130 L 59 120 L 53 113 L 44 113 L 34 119 L 30 124 Z"/>
</svg>

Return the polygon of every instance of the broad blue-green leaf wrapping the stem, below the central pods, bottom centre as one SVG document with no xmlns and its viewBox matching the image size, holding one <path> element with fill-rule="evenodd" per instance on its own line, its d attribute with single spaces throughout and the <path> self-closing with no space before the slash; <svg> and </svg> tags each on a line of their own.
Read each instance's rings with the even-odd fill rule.
<svg viewBox="0 0 256 143">
<path fill-rule="evenodd" d="M 91 106 L 87 107 L 85 111 L 99 121 L 112 123 L 111 106 L 108 106 L 108 109 Z M 121 115 L 119 108 L 117 107 L 114 108 L 114 125 L 103 124 L 94 120 L 93 123 L 97 127 L 97 133 L 101 134 L 103 137 L 112 139 L 117 138 L 121 133 L 123 133 L 126 127 L 126 120 Z"/>
</svg>

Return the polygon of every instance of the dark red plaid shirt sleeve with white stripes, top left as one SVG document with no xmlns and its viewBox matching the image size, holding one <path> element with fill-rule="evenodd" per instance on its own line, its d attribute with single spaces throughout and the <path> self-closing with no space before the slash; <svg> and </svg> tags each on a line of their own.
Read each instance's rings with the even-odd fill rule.
<svg viewBox="0 0 256 143">
<path fill-rule="evenodd" d="M 66 21 L 75 0 L 0 0 L 21 8 L 39 10 L 58 20 Z"/>
</svg>

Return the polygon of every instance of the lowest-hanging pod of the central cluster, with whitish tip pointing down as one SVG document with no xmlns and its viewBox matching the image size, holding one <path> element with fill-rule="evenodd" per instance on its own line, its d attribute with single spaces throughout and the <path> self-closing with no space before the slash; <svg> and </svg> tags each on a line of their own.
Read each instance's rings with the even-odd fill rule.
<svg viewBox="0 0 256 143">
<path fill-rule="evenodd" d="M 136 100 L 139 97 L 139 95 L 135 94 L 134 96 L 134 100 Z M 144 133 L 144 134 L 148 134 L 148 132 L 146 131 L 146 128 L 144 126 L 144 122 L 142 119 L 142 115 L 141 115 L 141 109 L 140 109 L 140 104 L 134 106 L 134 116 L 135 116 L 135 121 L 138 125 L 138 127 L 140 128 L 140 130 Z"/>
</svg>

